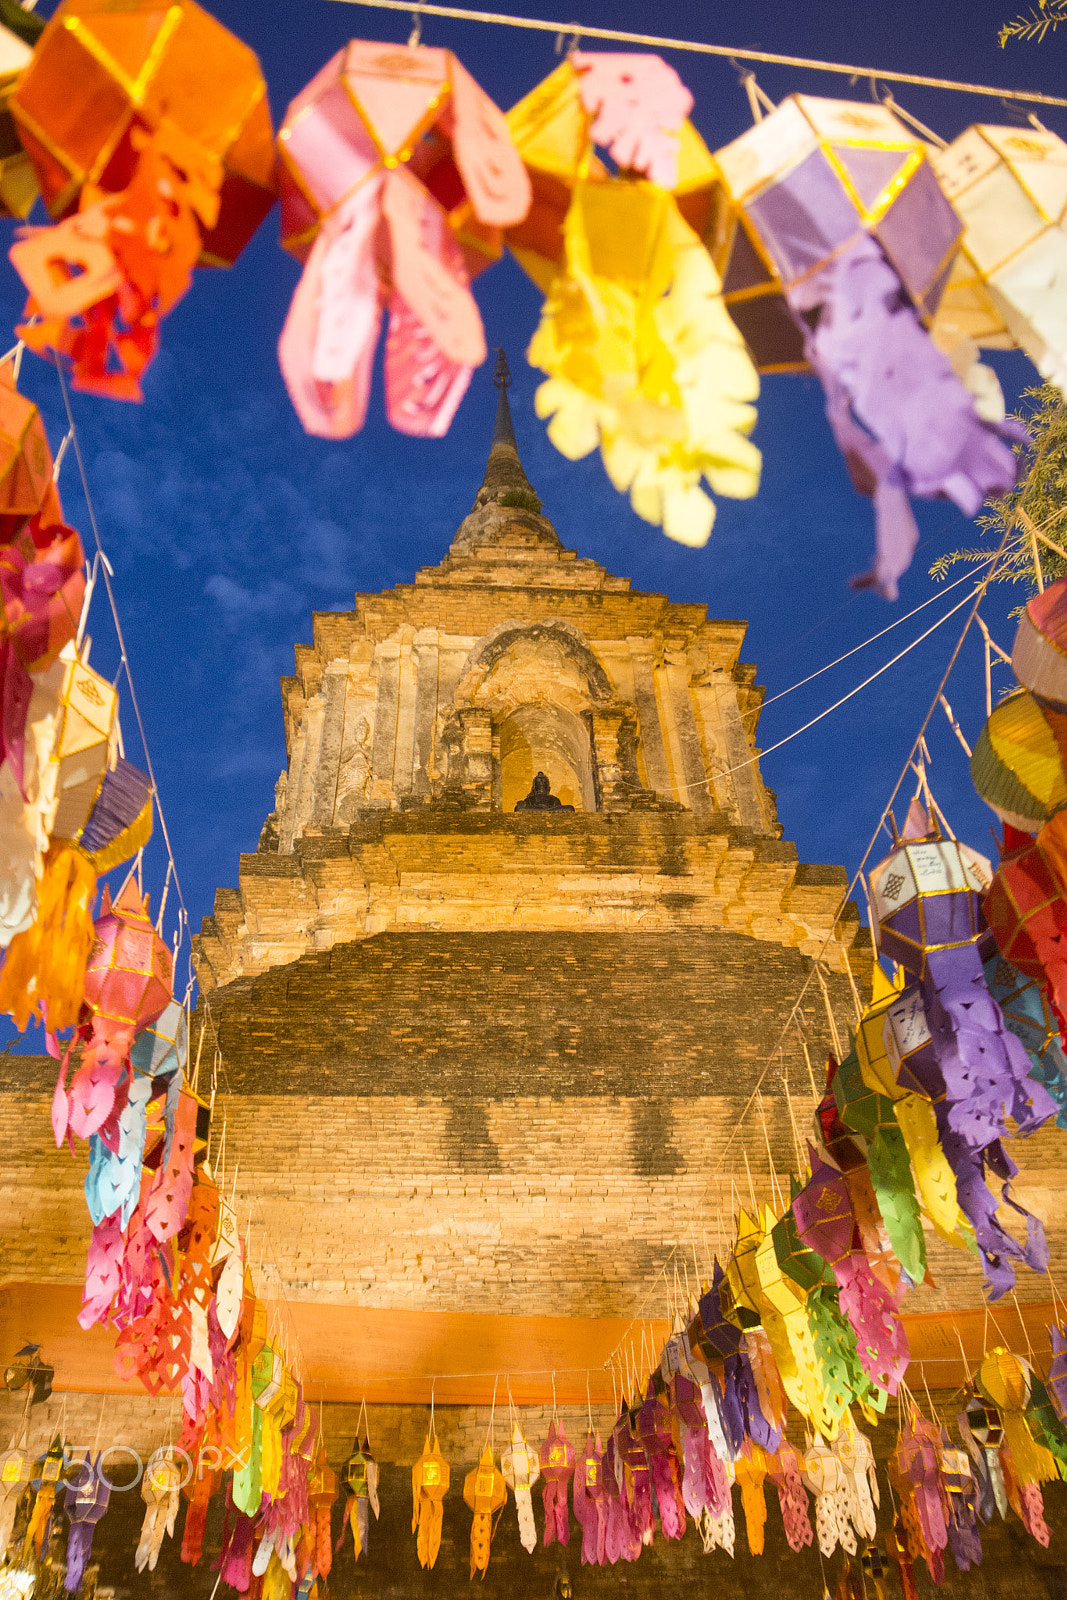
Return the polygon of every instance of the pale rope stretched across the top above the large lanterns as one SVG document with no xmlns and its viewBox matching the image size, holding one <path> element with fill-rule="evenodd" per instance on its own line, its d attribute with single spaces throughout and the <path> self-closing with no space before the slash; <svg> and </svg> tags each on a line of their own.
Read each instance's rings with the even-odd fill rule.
<svg viewBox="0 0 1067 1600">
<path fill-rule="evenodd" d="M 437 16 L 453 22 L 488 22 L 493 27 L 518 27 L 534 34 L 555 34 L 557 38 L 603 38 L 614 45 L 645 45 L 651 50 L 680 50 L 696 56 L 721 56 L 725 61 L 760 61 L 771 67 L 800 67 L 806 72 L 833 72 L 845 78 L 881 78 L 886 83 L 913 83 L 926 90 L 952 90 L 960 94 L 987 94 L 993 99 L 1032 102 L 1035 106 L 1067 106 L 1057 94 L 1038 90 L 1001 90 L 989 83 L 960 83 L 957 78 L 931 78 L 913 72 L 891 72 L 883 67 L 854 67 L 843 61 L 814 61 L 809 56 L 781 56 L 769 50 L 737 50 L 734 45 L 707 45 L 696 38 L 664 38 L 657 34 L 630 34 L 619 27 L 585 27 L 581 22 L 550 22 L 534 16 L 506 16 L 501 11 L 472 11 L 453 5 L 411 5 L 411 0 L 338 0 L 342 5 L 360 5 L 371 11 L 403 11 L 408 16 Z"/>
</svg>

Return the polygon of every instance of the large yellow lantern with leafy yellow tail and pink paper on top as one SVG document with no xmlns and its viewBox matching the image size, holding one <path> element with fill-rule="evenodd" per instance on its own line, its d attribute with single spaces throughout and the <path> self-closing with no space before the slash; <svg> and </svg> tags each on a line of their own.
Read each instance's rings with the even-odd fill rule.
<svg viewBox="0 0 1067 1600">
<path fill-rule="evenodd" d="M 571 461 L 600 446 L 638 517 L 701 546 L 715 520 L 702 482 L 734 498 L 758 488 L 760 384 L 680 210 L 715 173 L 691 104 L 657 56 L 576 51 L 509 112 L 534 203 L 507 240 L 545 294 L 528 355 L 547 373 L 549 438 Z"/>
</svg>

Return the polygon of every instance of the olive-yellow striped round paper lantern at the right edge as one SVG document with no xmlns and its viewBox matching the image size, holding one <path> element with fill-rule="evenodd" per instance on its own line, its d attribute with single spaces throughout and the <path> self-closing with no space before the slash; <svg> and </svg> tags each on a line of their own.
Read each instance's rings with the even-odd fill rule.
<svg viewBox="0 0 1067 1600">
<path fill-rule="evenodd" d="M 1037 834 L 1067 805 L 1065 754 L 1067 712 L 1016 690 L 977 736 L 971 779 L 1001 822 Z"/>
</svg>

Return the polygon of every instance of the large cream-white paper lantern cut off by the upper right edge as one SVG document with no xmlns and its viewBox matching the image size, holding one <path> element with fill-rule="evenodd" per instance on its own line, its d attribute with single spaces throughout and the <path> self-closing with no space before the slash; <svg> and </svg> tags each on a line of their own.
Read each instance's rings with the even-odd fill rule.
<svg viewBox="0 0 1067 1600">
<path fill-rule="evenodd" d="M 1067 384 L 1067 144 L 1048 128 L 976 123 L 931 157 L 965 224 L 963 256 L 1013 342 Z M 979 330 L 981 333 L 981 330 Z M 981 336 L 976 342 L 985 342 Z"/>
</svg>

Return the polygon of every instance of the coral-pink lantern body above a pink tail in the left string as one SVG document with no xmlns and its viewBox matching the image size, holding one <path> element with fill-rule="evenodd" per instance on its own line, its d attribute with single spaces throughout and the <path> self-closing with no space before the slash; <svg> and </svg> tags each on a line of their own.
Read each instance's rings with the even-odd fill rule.
<svg viewBox="0 0 1067 1600">
<path fill-rule="evenodd" d="M 94 1029 L 131 1037 L 155 1022 L 171 1000 L 173 960 L 149 922 L 147 902 L 133 878 L 112 906 L 104 885 L 96 946 L 85 968 L 85 998 Z"/>
</svg>

